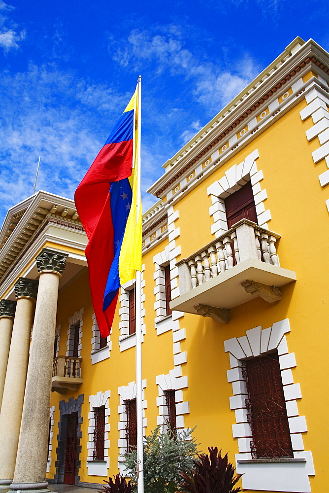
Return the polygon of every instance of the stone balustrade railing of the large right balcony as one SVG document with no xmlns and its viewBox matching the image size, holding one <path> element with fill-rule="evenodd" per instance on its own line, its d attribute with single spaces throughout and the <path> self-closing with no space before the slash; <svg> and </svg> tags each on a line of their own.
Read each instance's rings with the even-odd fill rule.
<svg viewBox="0 0 329 493">
<path fill-rule="evenodd" d="M 253 258 L 280 266 L 275 243 L 280 235 L 241 219 L 229 231 L 177 263 L 181 293 Z"/>
</svg>

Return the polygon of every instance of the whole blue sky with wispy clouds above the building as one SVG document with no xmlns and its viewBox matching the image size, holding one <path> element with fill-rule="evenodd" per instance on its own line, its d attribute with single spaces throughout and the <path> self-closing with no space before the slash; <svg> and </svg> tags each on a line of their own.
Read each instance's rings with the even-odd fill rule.
<svg viewBox="0 0 329 493">
<path fill-rule="evenodd" d="M 141 73 L 143 209 L 162 165 L 297 35 L 329 49 L 326 0 L 0 0 L 0 223 L 72 198 Z"/>
</svg>

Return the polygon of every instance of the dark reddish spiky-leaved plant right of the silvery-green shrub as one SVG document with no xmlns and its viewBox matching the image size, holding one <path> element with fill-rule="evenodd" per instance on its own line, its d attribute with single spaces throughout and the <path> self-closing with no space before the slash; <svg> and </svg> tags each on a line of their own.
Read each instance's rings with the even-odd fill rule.
<svg viewBox="0 0 329 493">
<path fill-rule="evenodd" d="M 208 447 L 208 454 L 200 454 L 194 460 L 195 469 L 190 475 L 181 471 L 183 481 L 180 487 L 186 493 L 238 493 L 240 487 L 233 489 L 241 474 L 234 476 L 235 468 L 228 461 L 228 455 L 221 456 L 217 447 Z"/>
</svg>

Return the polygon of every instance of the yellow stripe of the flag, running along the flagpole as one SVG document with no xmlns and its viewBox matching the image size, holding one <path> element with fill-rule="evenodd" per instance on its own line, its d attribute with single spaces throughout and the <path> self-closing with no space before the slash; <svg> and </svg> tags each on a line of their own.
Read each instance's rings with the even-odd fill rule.
<svg viewBox="0 0 329 493">
<path fill-rule="evenodd" d="M 130 107 L 132 101 L 133 106 Z M 134 167 L 132 168 L 132 176 L 129 177 L 129 181 L 132 185 L 132 206 L 128 216 L 119 256 L 119 275 L 121 285 L 125 284 L 128 281 L 132 281 L 132 279 L 135 279 L 136 271 L 142 270 L 142 207 L 140 195 L 139 197 L 137 197 L 137 167 L 139 166 L 139 163 L 137 162 L 137 125 L 140 125 L 140 122 L 137 122 L 137 102 L 138 91 L 136 89 L 135 94 L 132 96 L 131 102 L 125 110 L 130 111 L 131 109 L 133 109 L 133 107 L 135 107 Z"/>
</svg>

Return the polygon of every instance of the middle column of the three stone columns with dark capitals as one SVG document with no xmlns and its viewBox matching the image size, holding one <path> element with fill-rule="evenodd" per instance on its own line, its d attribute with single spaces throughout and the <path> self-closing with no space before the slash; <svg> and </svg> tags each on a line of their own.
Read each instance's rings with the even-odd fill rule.
<svg viewBox="0 0 329 493">
<path fill-rule="evenodd" d="M 15 283 L 16 312 L 0 414 L 0 489 L 8 489 L 15 470 L 37 281 Z"/>
</svg>

